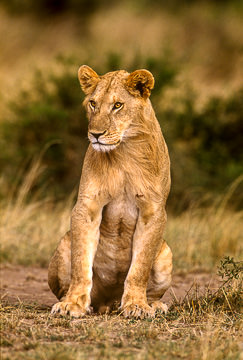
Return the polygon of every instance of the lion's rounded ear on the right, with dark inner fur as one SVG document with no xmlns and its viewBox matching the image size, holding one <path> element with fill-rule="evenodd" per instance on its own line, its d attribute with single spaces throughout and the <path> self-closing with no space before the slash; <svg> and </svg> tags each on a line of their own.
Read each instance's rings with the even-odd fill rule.
<svg viewBox="0 0 243 360">
<path fill-rule="evenodd" d="M 148 70 L 133 71 L 127 78 L 126 88 L 134 96 L 147 99 L 154 87 L 154 77 Z"/>
</svg>

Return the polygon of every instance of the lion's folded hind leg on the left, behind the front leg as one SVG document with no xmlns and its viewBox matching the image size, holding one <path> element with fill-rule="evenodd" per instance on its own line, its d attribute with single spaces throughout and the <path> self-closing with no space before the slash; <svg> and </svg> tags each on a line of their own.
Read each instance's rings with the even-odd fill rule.
<svg viewBox="0 0 243 360">
<path fill-rule="evenodd" d="M 48 284 L 54 295 L 62 299 L 71 282 L 71 239 L 67 232 L 60 240 L 48 268 Z"/>
</svg>

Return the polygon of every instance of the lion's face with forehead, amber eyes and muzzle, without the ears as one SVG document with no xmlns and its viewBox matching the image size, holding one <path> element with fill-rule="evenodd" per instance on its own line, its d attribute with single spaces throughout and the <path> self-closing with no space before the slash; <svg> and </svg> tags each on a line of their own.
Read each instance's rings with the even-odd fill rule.
<svg viewBox="0 0 243 360">
<path fill-rule="evenodd" d="M 122 84 L 128 74 L 122 72 L 119 75 L 101 79 L 87 99 L 88 136 L 93 148 L 98 151 L 110 151 L 119 146 L 130 126 L 131 110 L 137 105 L 137 99 Z"/>
</svg>

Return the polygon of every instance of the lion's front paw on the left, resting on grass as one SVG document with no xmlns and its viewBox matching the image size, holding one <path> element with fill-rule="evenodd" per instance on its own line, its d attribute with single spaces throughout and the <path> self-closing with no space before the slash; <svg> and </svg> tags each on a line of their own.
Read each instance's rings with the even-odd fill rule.
<svg viewBox="0 0 243 360">
<path fill-rule="evenodd" d="M 60 315 L 70 315 L 75 318 L 83 317 L 86 314 L 92 312 L 91 308 L 85 309 L 79 306 L 78 304 L 61 301 L 53 305 L 51 314 L 60 314 Z"/>
</svg>

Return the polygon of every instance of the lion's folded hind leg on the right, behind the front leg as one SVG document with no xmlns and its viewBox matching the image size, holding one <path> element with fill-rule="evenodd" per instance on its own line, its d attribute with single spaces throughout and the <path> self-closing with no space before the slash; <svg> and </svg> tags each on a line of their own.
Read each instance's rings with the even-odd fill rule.
<svg viewBox="0 0 243 360">
<path fill-rule="evenodd" d="M 165 291 L 170 287 L 172 273 L 172 252 L 164 241 L 156 257 L 147 287 L 149 305 L 155 311 L 167 312 L 168 307 L 162 302 Z"/>
</svg>

